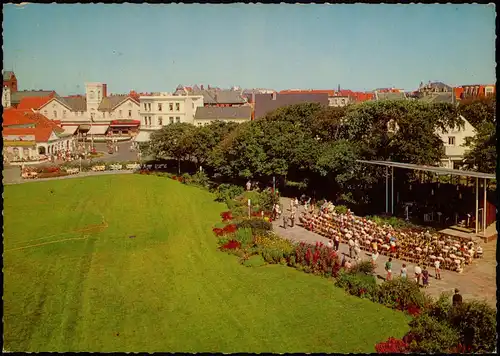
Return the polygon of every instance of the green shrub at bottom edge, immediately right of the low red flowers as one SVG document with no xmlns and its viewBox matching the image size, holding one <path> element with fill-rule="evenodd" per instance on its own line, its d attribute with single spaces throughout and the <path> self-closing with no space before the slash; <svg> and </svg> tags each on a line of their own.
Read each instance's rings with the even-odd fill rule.
<svg viewBox="0 0 500 356">
<path fill-rule="evenodd" d="M 459 340 L 458 333 L 447 323 L 441 323 L 427 314 L 413 319 L 410 328 L 403 340 L 415 353 L 448 353 Z"/>
</svg>

